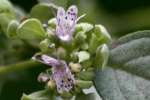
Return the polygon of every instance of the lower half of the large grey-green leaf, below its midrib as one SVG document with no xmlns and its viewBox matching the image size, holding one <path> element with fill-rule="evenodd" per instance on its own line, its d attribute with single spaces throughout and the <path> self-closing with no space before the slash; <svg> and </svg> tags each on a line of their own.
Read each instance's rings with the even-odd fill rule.
<svg viewBox="0 0 150 100">
<path fill-rule="evenodd" d="M 95 76 L 95 87 L 103 100 L 150 99 L 150 82 L 143 78 L 109 67 Z"/>
</svg>

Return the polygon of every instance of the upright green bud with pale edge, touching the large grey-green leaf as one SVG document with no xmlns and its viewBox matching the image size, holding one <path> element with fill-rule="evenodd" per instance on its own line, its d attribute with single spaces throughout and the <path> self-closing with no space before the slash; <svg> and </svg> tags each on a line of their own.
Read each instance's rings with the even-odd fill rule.
<svg viewBox="0 0 150 100">
<path fill-rule="evenodd" d="M 104 68 L 107 65 L 109 57 L 109 48 L 106 44 L 99 46 L 96 50 L 96 57 L 94 65 L 97 68 Z"/>
</svg>

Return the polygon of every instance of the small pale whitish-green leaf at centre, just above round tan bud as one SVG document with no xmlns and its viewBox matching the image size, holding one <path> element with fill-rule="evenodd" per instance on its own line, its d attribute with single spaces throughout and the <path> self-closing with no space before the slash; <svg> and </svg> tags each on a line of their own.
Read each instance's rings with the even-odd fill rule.
<svg viewBox="0 0 150 100">
<path fill-rule="evenodd" d="M 79 63 L 90 59 L 90 54 L 87 51 L 78 52 Z"/>
</svg>

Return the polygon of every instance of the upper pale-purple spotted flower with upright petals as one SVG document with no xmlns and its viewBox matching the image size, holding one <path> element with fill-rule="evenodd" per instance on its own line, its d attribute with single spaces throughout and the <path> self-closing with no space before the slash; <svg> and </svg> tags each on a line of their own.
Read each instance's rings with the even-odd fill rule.
<svg viewBox="0 0 150 100">
<path fill-rule="evenodd" d="M 64 8 L 59 7 L 57 10 L 57 23 L 56 23 L 56 35 L 63 41 L 70 41 L 72 39 L 73 32 L 77 21 L 84 17 L 77 18 L 78 8 L 72 5 L 65 12 Z"/>
</svg>

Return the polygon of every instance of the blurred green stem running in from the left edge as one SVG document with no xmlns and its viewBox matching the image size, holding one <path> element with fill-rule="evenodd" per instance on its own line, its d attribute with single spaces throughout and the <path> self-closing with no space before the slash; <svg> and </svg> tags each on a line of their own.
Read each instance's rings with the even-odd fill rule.
<svg viewBox="0 0 150 100">
<path fill-rule="evenodd" d="M 16 64 L 11 64 L 8 66 L 0 66 L 0 75 L 8 74 L 11 72 L 16 72 L 20 70 L 25 70 L 32 67 L 39 66 L 39 63 L 29 60 L 29 61 L 23 61 Z"/>
</svg>

